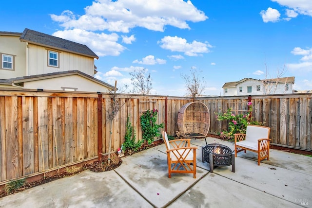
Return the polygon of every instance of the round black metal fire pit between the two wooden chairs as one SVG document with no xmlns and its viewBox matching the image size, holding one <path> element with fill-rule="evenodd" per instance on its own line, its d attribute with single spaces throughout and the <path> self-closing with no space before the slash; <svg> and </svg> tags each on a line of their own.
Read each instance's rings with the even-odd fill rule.
<svg viewBox="0 0 312 208">
<path fill-rule="evenodd" d="M 210 172 L 214 173 L 215 166 L 230 166 L 235 173 L 235 155 L 230 147 L 219 143 L 207 144 L 201 148 L 201 161 L 208 162 Z"/>
</svg>

